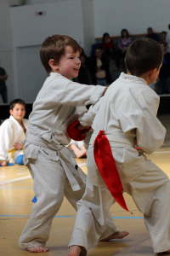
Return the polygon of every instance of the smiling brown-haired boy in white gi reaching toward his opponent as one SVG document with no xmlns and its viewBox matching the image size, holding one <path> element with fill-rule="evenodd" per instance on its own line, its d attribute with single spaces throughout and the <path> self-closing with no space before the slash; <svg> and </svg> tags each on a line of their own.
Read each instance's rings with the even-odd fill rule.
<svg viewBox="0 0 170 256">
<path fill-rule="evenodd" d="M 67 36 L 47 38 L 40 49 L 40 58 L 48 78 L 37 95 L 29 117 L 29 133 L 24 148 L 24 162 L 34 179 L 37 203 L 23 230 L 19 244 L 32 253 L 48 252 L 45 247 L 54 216 L 59 211 L 64 195 L 77 210 L 77 201 L 85 191 L 86 175 L 73 160 L 67 127 L 77 119 L 78 106 L 96 103 L 105 93 L 102 86 L 77 84 L 81 65 L 81 48 Z M 122 238 L 108 213 L 105 237 Z"/>
</svg>

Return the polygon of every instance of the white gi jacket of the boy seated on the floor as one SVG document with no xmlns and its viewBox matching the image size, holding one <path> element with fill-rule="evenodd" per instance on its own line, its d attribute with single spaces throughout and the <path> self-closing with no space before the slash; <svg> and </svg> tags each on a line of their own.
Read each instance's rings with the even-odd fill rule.
<svg viewBox="0 0 170 256">
<path fill-rule="evenodd" d="M 26 127 L 26 133 L 12 115 L 9 119 L 4 120 L 3 124 L 0 126 L 0 160 L 9 161 L 14 164 L 17 157 L 23 154 L 22 150 L 16 150 L 13 155 L 12 152 L 8 153 L 8 151 L 15 149 L 14 143 L 22 144 L 26 141 L 29 121 L 27 119 L 22 119 L 22 121 Z"/>
</svg>

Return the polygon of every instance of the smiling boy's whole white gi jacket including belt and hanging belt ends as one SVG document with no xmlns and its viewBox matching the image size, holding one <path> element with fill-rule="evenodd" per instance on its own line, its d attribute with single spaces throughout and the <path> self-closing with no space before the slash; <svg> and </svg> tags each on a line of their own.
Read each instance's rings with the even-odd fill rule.
<svg viewBox="0 0 170 256">
<path fill-rule="evenodd" d="M 49 160 L 60 160 L 72 189 L 80 189 L 71 174 L 71 166 L 75 168 L 76 163 L 70 149 L 63 147 L 71 142 L 67 127 L 78 119 L 77 107 L 95 104 L 104 91 L 103 86 L 78 84 L 59 73 L 50 73 L 29 117 L 29 133 L 24 148 L 25 165 L 29 159 L 37 160 L 40 147 L 47 148 Z"/>
</svg>

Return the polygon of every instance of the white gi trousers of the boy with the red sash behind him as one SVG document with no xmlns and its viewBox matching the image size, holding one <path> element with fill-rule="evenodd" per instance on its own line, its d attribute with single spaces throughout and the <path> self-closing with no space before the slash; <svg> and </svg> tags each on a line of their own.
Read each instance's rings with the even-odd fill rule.
<svg viewBox="0 0 170 256">
<path fill-rule="evenodd" d="M 148 170 L 130 183 L 123 183 L 123 191 L 144 214 L 155 253 L 170 249 L 168 221 L 170 213 L 170 181 L 167 175 L 150 161 Z M 105 220 L 114 199 L 106 187 L 86 181 L 86 191 L 77 202 L 77 219 L 70 246 L 78 245 L 88 251 L 105 231 Z M 132 220 L 133 221 L 133 220 Z M 86 255 L 84 250 L 81 256 Z"/>
</svg>

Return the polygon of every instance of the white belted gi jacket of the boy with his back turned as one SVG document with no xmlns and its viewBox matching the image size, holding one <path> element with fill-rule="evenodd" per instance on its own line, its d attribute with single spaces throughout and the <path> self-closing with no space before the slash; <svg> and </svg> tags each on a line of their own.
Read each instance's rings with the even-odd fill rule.
<svg viewBox="0 0 170 256">
<path fill-rule="evenodd" d="M 122 183 L 129 183 L 149 169 L 146 154 L 153 153 L 164 142 L 166 129 L 156 118 L 159 96 L 145 80 L 121 73 L 99 102 L 80 118 L 82 125 L 92 125 L 94 134 L 88 148 L 88 175 L 94 185 L 104 186 L 94 161 L 94 140 L 99 131 L 108 137 Z"/>
</svg>

